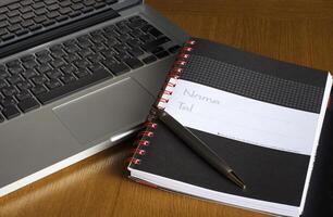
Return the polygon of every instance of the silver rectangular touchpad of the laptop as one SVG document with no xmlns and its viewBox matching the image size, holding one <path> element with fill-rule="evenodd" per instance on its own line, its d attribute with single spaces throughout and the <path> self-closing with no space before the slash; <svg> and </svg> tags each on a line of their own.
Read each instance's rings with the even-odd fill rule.
<svg viewBox="0 0 333 217">
<path fill-rule="evenodd" d="M 79 143 L 106 140 L 143 123 L 153 98 L 127 78 L 53 110 Z"/>
</svg>

